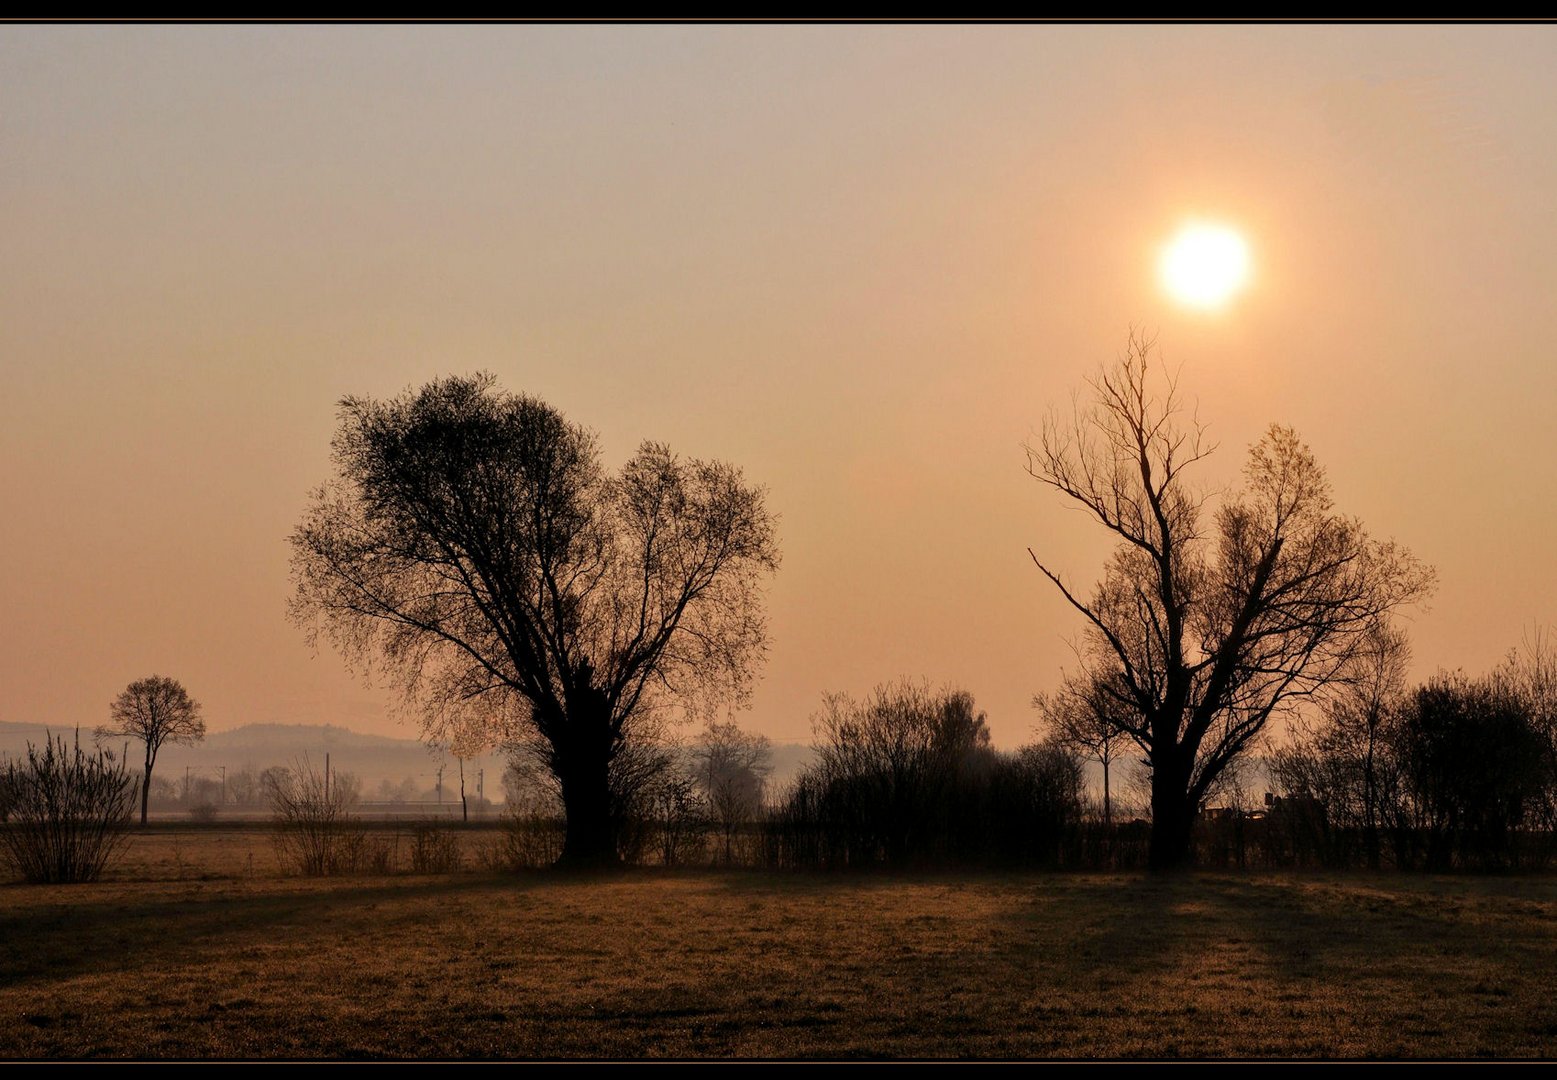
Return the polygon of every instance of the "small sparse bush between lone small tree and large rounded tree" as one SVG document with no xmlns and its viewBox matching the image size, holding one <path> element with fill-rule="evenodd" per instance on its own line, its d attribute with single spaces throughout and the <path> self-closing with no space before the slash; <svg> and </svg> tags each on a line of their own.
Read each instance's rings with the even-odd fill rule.
<svg viewBox="0 0 1557 1080">
<path fill-rule="evenodd" d="M 282 865 L 327 878 L 357 873 L 371 859 L 363 825 L 350 812 L 357 784 L 349 775 L 325 777 L 304 759 L 294 769 L 268 769 L 265 789 Z"/>
</svg>

